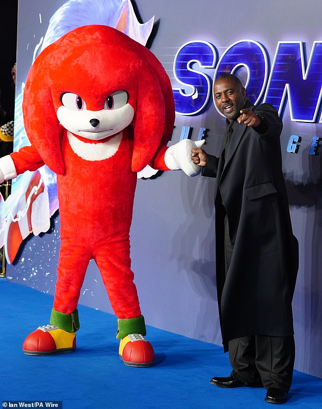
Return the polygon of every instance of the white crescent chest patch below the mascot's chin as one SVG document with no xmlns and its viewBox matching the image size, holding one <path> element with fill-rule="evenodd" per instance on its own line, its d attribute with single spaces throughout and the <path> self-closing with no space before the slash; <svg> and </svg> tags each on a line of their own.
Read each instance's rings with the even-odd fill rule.
<svg viewBox="0 0 322 409">
<path fill-rule="evenodd" d="M 104 161 L 113 156 L 121 143 L 122 131 L 101 143 L 82 142 L 67 131 L 68 141 L 73 151 L 85 161 Z"/>
</svg>

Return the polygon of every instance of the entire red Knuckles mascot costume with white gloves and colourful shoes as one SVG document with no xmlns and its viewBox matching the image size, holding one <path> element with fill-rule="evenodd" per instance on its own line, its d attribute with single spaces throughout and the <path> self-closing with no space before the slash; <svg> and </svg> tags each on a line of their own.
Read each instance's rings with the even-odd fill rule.
<svg viewBox="0 0 322 409">
<path fill-rule="evenodd" d="M 151 366 L 130 259 L 137 172 L 200 168 L 197 143 L 167 147 L 174 125 L 170 80 L 144 46 L 104 25 L 73 29 L 45 48 L 31 67 L 23 97 L 30 146 L 0 160 L 8 180 L 46 164 L 57 174 L 60 253 L 50 324 L 27 336 L 23 351 L 73 351 L 77 304 L 88 263 L 100 269 L 117 317 L 124 364 Z M 200 145 L 198 145 L 200 146 Z"/>
</svg>

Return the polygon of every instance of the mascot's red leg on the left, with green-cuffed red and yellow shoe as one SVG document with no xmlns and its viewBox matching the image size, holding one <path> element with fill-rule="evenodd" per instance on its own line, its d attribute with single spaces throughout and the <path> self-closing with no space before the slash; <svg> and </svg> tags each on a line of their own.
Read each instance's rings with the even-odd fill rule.
<svg viewBox="0 0 322 409">
<path fill-rule="evenodd" d="M 73 248 L 72 253 L 70 248 Z M 76 349 L 76 331 L 79 329 L 77 303 L 89 259 L 84 247 L 76 244 L 71 247 L 66 240 L 61 240 L 50 324 L 38 327 L 26 337 L 22 347 L 26 355 L 52 355 Z"/>
</svg>

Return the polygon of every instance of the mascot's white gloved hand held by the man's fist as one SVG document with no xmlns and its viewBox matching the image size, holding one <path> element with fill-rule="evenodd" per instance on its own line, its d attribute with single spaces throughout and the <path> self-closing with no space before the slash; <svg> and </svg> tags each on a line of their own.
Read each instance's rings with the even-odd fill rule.
<svg viewBox="0 0 322 409">
<path fill-rule="evenodd" d="M 197 176 L 201 172 L 201 166 L 196 165 L 191 160 L 191 149 L 201 148 L 205 139 L 201 141 L 191 141 L 183 139 L 182 141 L 169 146 L 165 153 L 165 164 L 170 170 L 183 170 L 188 176 Z"/>
</svg>

